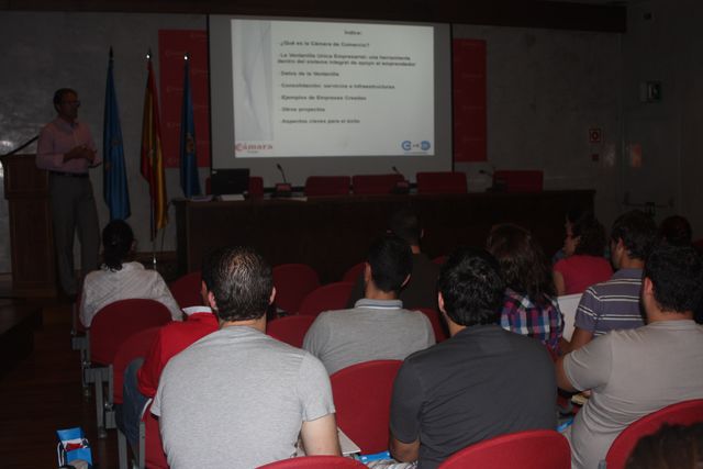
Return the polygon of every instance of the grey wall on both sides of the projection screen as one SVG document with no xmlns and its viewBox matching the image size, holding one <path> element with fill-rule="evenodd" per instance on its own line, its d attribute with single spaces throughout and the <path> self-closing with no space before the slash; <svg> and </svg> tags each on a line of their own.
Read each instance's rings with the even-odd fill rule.
<svg viewBox="0 0 703 469">
<path fill-rule="evenodd" d="M 488 45 L 488 163 L 458 166 L 469 172 L 470 186 L 480 190 L 489 183 L 480 168 L 543 169 L 546 189 L 595 189 L 596 211 L 606 225 L 627 209 L 623 200 L 628 193 L 636 203 L 673 200 L 673 209 L 658 210 L 658 216 L 681 212 L 703 236 L 703 5 L 679 3 L 684 4 L 631 4 L 626 34 L 455 25 L 455 37 L 483 38 Z M 647 11 L 654 21 L 643 20 Z M 203 15 L 3 12 L 0 154 L 54 118 L 52 93 L 64 86 L 79 91 L 81 119 L 101 147 L 112 45 L 132 199 L 129 222 L 140 250 L 150 250 L 147 185 L 138 174 L 144 54 L 152 48 L 158 72 L 159 29 L 204 27 Z M 663 82 L 661 103 L 639 102 L 639 82 L 647 79 Z M 591 127 L 602 130 L 604 143 L 589 143 Z M 643 145 L 641 168 L 629 167 L 628 143 Z M 592 161 L 592 154 L 600 160 Z M 92 172 L 103 225 L 102 172 Z M 180 194 L 178 170 L 166 172 L 169 196 Z M 7 202 L 0 204 L 2 272 L 10 263 Z M 165 250 L 176 247 L 172 210 L 170 220 Z"/>
</svg>

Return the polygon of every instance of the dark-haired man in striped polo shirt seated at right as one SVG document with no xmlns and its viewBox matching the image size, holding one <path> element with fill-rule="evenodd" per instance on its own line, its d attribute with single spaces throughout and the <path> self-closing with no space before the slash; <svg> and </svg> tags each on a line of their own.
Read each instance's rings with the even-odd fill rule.
<svg viewBox="0 0 703 469">
<path fill-rule="evenodd" d="M 594 336 L 644 324 L 639 305 L 641 269 L 656 243 L 657 226 L 639 210 L 615 220 L 611 231 L 613 277 L 585 290 L 576 311 L 574 330 L 566 350 L 576 350 Z"/>
</svg>

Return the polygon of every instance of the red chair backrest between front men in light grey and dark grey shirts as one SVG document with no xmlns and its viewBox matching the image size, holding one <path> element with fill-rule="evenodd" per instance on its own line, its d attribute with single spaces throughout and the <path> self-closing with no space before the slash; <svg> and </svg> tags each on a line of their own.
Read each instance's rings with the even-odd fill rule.
<svg viewBox="0 0 703 469">
<path fill-rule="evenodd" d="M 401 360 L 373 360 L 341 369 L 330 377 L 337 425 L 370 455 L 388 449 L 391 393 Z"/>
</svg>

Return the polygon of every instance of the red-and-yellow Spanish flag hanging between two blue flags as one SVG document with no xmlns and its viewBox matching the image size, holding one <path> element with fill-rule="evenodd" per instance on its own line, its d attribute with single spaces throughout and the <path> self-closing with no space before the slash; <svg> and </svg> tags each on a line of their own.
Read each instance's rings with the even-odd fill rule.
<svg viewBox="0 0 703 469">
<path fill-rule="evenodd" d="M 152 198 L 152 239 L 166 226 L 168 211 L 166 203 L 166 181 L 164 179 L 164 155 L 161 152 L 161 131 L 158 119 L 158 96 L 154 85 L 152 55 L 148 58 L 148 77 L 144 96 L 144 120 L 142 122 L 142 176 L 149 185 Z"/>
</svg>

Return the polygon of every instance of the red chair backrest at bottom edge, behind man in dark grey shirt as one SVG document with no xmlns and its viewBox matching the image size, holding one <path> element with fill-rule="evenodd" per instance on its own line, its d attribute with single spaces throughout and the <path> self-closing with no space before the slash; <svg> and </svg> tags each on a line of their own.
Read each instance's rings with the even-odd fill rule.
<svg viewBox="0 0 703 469">
<path fill-rule="evenodd" d="M 553 429 L 511 433 L 464 448 L 439 465 L 439 469 L 465 468 L 570 469 L 571 449 Z"/>
</svg>

